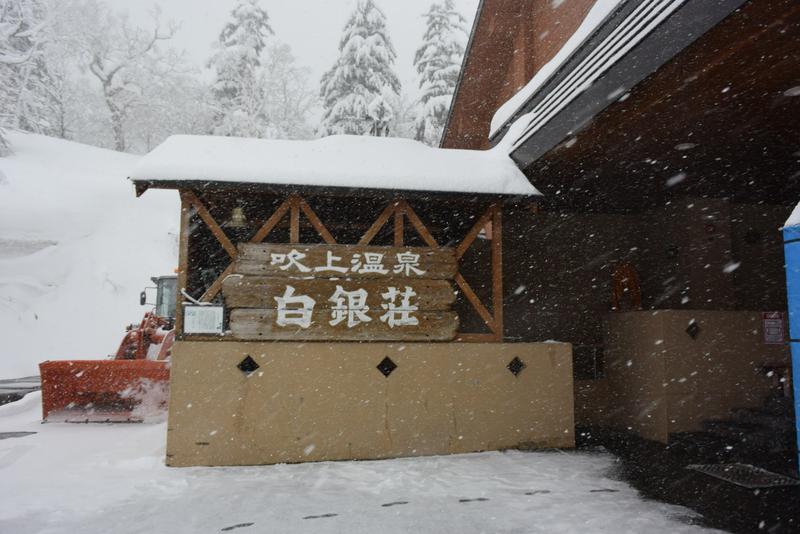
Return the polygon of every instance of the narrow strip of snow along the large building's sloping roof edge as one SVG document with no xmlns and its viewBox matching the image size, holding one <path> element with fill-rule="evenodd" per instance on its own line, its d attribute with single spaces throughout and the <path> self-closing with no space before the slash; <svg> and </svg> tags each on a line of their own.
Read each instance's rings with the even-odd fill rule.
<svg viewBox="0 0 800 534">
<path fill-rule="evenodd" d="M 490 136 L 497 131 L 511 118 L 511 116 L 521 108 L 542 86 L 561 68 L 561 66 L 572 57 L 572 55 L 591 37 L 600 24 L 608 17 L 618 5 L 624 0 L 598 0 L 586 14 L 586 18 L 575 33 L 572 34 L 564 46 L 553 56 L 553 59 L 545 63 L 541 69 L 531 78 L 531 80 L 520 89 L 514 96 L 509 98 L 492 117 Z"/>
</svg>

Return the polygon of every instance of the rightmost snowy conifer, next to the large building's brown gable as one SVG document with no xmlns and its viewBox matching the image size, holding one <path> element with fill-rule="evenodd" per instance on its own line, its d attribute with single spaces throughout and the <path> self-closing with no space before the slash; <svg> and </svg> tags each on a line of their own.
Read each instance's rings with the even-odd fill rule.
<svg viewBox="0 0 800 534">
<path fill-rule="evenodd" d="M 437 145 L 447 121 L 464 57 L 466 19 L 455 10 L 453 0 L 433 3 L 425 19 L 422 46 L 414 55 L 422 92 L 416 138 L 429 145 Z"/>
</svg>

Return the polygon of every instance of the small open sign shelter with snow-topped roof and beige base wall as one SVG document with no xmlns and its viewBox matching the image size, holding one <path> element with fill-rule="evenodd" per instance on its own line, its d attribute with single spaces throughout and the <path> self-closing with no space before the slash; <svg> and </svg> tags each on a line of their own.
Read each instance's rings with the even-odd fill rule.
<svg viewBox="0 0 800 534">
<path fill-rule="evenodd" d="M 175 136 L 130 178 L 182 201 L 169 465 L 574 444 L 570 346 L 506 336 L 507 155 Z"/>
</svg>

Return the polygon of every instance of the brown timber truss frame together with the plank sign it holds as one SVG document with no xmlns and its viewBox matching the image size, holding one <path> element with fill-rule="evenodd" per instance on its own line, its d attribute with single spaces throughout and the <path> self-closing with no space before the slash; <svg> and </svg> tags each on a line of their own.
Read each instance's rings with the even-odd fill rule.
<svg viewBox="0 0 800 534">
<path fill-rule="evenodd" d="M 215 220 L 198 194 L 183 190 L 181 201 L 178 287 L 187 287 L 192 268 L 189 265 L 189 236 L 193 231 L 192 225 L 202 221 L 227 255 L 228 266 L 216 280 L 205 286 L 199 300 L 212 302 L 222 293 L 230 310 L 231 334 L 236 339 L 448 340 L 455 337 L 458 341 L 502 340 L 502 206 L 499 201 L 489 204 L 461 240 L 455 246 L 449 243 L 449 247 L 436 241 L 405 199 L 391 201 L 358 242 L 351 244 L 337 243 L 306 199 L 297 194 L 288 195 L 245 242 L 237 244 L 228 237 L 223 225 Z M 300 243 L 301 217 L 308 221 L 324 243 Z M 263 243 L 287 219 L 288 243 Z M 393 246 L 371 245 L 387 225 L 392 229 Z M 407 229 L 413 229 L 427 246 L 405 246 Z M 490 298 L 486 302 L 460 272 L 463 257 L 479 235 L 491 242 Z M 380 270 L 358 267 L 359 261 L 363 267 L 369 257 L 374 259 L 375 255 L 381 257 Z M 403 259 L 417 257 L 418 263 L 411 262 L 414 270 L 408 270 L 408 261 Z M 298 268 L 296 263 L 309 270 Z M 292 291 L 287 297 L 289 287 Z M 352 297 L 347 295 L 359 290 L 366 293 L 363 307 L 369 311 L 364 312 L 364 316 L 370 320 L 362 319 L 348 327 L 348 322 L 353 323 L 350 320 L 353 313 L 347 305 L 348 298 Z M 391 309 L 392 300 L 395 307 L 402 307 L 404 295 L 412 293 L 408 302 L 416 308 L 411 315 L 418 324 L 399 325 L 390 321 L 393 316 L 387 315 L 387 311 Z M 451 311 L 451 306 L 458 294 L 474 309 L 489 333 L 457 333 L 459 319 Z M 298 295 L 314 300 L 310 324 L 306 328 L 278 326 L 280 316 L 283 316 L 285 324 L 286 298 Z M 176 318 L 179 336 L 218 339 L 217 336 L 183 335 L 182 308 L 178 306 Z M 344 319 L 338 320 L 342 314 Z M 294 319 L 298 320 L 298 317 L 305 319 L 302 314 L 295 313 Z M 359 317 L 355 313 L 355 319 Z M 398 317 L 402 320 L 404 316 L 394 316 L 395 319 Z"/>
</svg>

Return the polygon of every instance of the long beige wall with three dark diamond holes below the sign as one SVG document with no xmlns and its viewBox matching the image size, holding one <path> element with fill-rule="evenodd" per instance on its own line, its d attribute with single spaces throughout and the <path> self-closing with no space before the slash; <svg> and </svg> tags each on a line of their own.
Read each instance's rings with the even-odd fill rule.
<svg viewBox="0 0 800 534">
<path fill-rule="evenodd" d="M 236 366 L 247 355 L 260 368 Z M 397 369 L 384 377 L 384 357 Z M 514 376 L 506 365 L 520 358 Z M 256 465 L 574 445 L 559 343 L 179 341 L 167 464 Z"/>
</svg>

